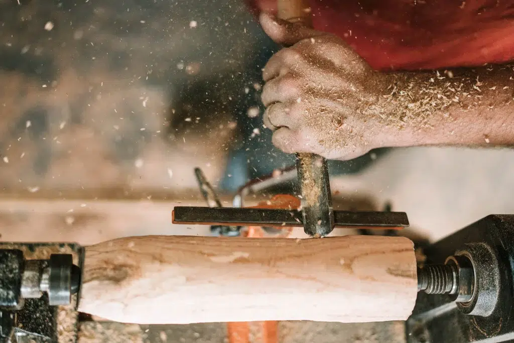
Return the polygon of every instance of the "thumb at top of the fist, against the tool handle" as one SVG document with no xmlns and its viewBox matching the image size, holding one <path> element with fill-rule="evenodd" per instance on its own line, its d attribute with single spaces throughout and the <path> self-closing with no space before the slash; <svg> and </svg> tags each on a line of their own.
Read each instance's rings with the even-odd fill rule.
<svg viewBox="0 0 514 343">
<path fill-rule="evenodd" d="M 269 13 L 262 12 L 260 17 L 264 32 L 275 43 L 291 46 L 306 38 L 317 37 L 326 33 L 310 29 L 300 23 L 289 23 Z"/>
</svg>

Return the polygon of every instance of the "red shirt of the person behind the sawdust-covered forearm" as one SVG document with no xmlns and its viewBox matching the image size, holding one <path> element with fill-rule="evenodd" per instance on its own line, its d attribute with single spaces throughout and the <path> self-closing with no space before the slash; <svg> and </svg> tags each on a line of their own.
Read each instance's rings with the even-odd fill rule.
<svg viewBox="0 0 514 343">
<path fill-rule="evenodd" d="M 276 0 L 247 0 L 276 12 Z M 375 69 L 514 60 L 514 0 L 309 0 L 317 30 L 339 35 Z"/>
</svg>

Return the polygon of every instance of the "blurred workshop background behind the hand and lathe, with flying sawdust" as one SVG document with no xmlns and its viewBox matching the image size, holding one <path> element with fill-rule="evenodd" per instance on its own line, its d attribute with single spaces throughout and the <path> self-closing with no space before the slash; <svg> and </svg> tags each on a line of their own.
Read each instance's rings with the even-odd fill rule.
<svg viewBox="0 0 514 343">
<path fill-rule="evenodd" d="M 277 49 L 242 0 L 0 0 L 2 240 L 211 234 L 171 224 L 173 205 L 203 204 L 195 167 L 231 206 L 293 165 L 262 126 L 261 68 Z M 329 168 L 339 209 L 390 204 L 432 240 L 514 212 L 511 150 L 384 149 Z M 316 341 L 370 332 L 324 328 Z"/>
</svg>

